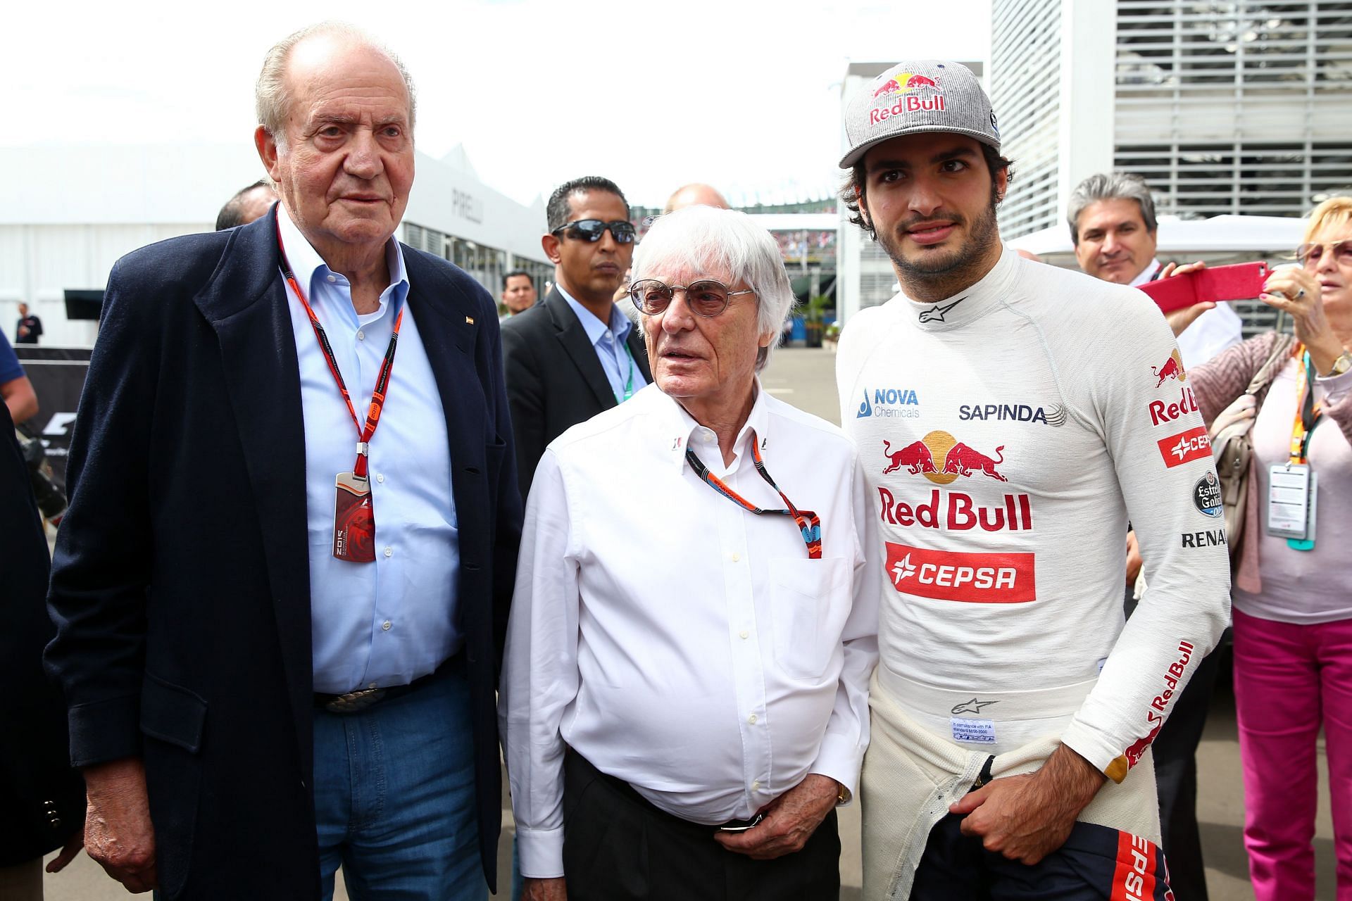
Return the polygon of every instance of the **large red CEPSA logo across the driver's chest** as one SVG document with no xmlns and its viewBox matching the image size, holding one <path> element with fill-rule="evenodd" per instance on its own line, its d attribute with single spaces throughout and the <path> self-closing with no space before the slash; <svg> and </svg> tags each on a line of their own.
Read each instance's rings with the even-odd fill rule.
<svg viewBox="0 0 1352 901">
<path fill-rule="evenodd" d="M 1033 554 L 965 554 L 887 542 L 886 567 L 900 594 L 968 604 L 1037 600 Z"/>
</svg>

